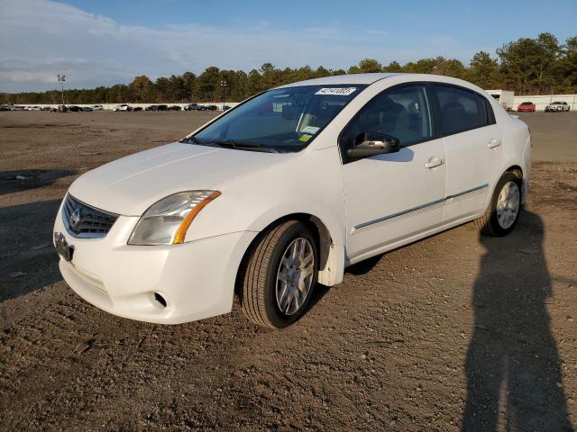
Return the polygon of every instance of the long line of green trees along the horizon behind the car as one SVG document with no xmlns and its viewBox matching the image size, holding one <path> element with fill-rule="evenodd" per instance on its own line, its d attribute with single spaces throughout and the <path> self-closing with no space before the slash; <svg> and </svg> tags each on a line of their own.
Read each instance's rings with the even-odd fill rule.
<svg viewBox="0 0 577 432">
<path fill-rule="evenodd" d="M 422 58 L 400 65 L 392 61 L 381 65 L 365 58 L 358 65 L 344 69 L 325 67 L 274 67 L 265 63 L 260 69 L 224 70 L 206 67 L 200 75 L 136 76 L 129 85 L 100 86 L 93 89 L 64 91 L 66 103 L 161 103 L 161 102 L 239 102 L 246 97 L 277 85 L 310 78 L 370 72 L 412 72 L 455 76 L 484 89 L 513 90 L 516 94 L 577 93 L 577 37 L 560 43 L 551 33 L 535 39 L 509 42 L 491 57 L 477 52 L 469 65 L 455 58 Z M 60 103 L 60 90 L 41 93 L 0 94 L 2 103 Z"/>
</svg>

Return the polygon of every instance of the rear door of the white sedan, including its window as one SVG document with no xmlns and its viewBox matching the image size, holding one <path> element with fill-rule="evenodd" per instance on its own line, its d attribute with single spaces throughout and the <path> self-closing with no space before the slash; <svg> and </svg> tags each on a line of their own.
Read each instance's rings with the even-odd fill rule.
<svg viewBox="0 0 577 432">
<path fill-rule="evenodd" d="M 502 136 L 484 96 L 455 85 L 431 87 L 446 151 L 443 223 L 450 223 L 484 210 L 501 168 Z"/>
</svg>

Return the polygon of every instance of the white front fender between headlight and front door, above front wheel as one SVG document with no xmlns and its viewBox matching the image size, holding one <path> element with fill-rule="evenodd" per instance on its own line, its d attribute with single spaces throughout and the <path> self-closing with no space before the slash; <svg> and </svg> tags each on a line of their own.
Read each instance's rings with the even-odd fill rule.
<svg viewBox="0 0 577 432">
<path fill-rule="evenodd" d="M 325 224 L 335 245 L 345 244 L 344 191 L 338 149 L 303 150 L 298 157 L 243 175 L 215 189 L 221 196 L 198 214 L 186 241 L 238 231 L 261 231 L 295 213 Z"/>
</svg>

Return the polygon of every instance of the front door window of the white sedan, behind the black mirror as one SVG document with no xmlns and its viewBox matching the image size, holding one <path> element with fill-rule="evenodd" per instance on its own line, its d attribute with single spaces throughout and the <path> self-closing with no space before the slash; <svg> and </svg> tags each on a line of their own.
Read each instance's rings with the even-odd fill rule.
<svg viewBox="0 0 577 432">
<path fill-rule="evenodd" d="M 364 105 L 341 135 L 343 149 L 352 148 L 364 132 L 391 135 L 402 146 L 431 139 L 433 128 L 424 85 L 386 90 Z"/>
</svg>

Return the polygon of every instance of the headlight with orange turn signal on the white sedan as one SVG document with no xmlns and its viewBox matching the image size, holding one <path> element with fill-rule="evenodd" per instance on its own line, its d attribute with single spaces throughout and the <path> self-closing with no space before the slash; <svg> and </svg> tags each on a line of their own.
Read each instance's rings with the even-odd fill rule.
<svg viewBox="0 0 577 432">
<path fill-rule="evenodd" d="M 129 245 L 170 245 L 184 241 L 198 212 L 220 196 L 218 191 L 179 192 L 152 204 L 134 227 Z"/>
</svg>

